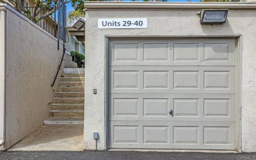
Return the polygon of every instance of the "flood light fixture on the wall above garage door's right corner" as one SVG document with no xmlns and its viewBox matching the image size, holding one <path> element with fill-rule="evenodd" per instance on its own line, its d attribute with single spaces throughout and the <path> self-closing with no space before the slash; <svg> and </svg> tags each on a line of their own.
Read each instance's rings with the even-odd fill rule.
<svg viewBox="0 0 256 160">
<path fill-rule="evenodd" d="M 221 24 L 225 23 L 227 19 L 228 10 L 203 10 L 201 12 L 201 24 Z"/>
</svg>

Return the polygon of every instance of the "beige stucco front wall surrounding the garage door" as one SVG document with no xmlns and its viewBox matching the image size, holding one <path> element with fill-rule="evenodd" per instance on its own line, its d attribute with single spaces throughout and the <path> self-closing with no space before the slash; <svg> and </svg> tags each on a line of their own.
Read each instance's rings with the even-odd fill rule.
<svg viewBox="0 0 256 160">
<path fill-rule="evenodd" d="M 242 43 L 242 150 L 256 152 L 256 10 L 229 10 L 225 24 L 201 25 L 196 10 L 86 11 L 84 149 L 106 149 L 105 36 L 234 36 Z M 98 29 L 98 18 L 147 18 L 147 29 Z M 93 94 L 93 89 L 97 94 Z M 239 118 L 239 117 L 238 117 Z M 237 129 L 237 132 L 240 132 Z"/>
</svg>

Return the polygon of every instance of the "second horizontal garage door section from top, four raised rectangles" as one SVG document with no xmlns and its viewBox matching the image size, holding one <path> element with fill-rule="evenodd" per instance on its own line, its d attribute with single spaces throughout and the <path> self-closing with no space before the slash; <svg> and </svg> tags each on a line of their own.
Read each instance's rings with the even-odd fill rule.
<svg viewBox="0 0 256 160">
<path fill-rule="evenodd" d="M 110 93 L 236 93 L 236 67 L 231 66 L 111 66 L 110 70 Z"/>
</svg>

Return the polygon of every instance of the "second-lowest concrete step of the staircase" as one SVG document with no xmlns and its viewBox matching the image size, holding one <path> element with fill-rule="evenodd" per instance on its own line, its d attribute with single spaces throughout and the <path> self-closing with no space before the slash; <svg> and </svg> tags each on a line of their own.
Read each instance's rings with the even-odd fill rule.
<svg viewBox="0 0 256 160">
<path fill-rule="evenodd" d="M 54 117 L 83 117 L 84 110 L 50 110 L 50 115 Z"/>
</svg>

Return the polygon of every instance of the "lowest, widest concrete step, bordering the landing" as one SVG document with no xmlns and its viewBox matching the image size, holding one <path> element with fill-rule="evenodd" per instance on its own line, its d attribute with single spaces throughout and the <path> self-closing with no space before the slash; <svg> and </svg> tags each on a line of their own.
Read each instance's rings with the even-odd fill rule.
<svg viewBox="0 0 256 160">
<path fill-rule="evenodd" d="M 84 124 L 83 117 L 49 117 L 44 124 Z"/>
</svg>

